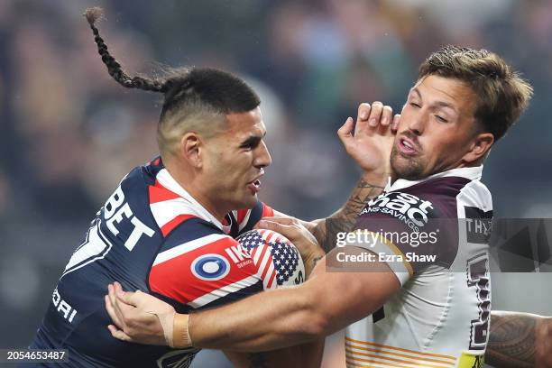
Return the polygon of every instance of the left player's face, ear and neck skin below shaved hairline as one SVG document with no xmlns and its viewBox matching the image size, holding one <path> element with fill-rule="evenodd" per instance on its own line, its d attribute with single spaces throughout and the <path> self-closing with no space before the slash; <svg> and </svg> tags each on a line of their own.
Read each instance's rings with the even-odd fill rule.
<svg viewBox="0 0 552 368">
<path fill-rule="evenodd" d="M 228 212 L 257 203 L 250 184 L 271 164 L 265 134 L 259 107 L 228 114 L 221 133 L 185 133 L 177 152 L 163 157 L 163 162 L 174 179 L 222 221 Z"/>
</svg>

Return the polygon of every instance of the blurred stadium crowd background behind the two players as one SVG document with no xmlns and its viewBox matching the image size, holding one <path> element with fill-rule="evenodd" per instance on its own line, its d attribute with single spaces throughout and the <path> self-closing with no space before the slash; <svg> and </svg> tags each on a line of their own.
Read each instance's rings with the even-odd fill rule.
<svg viewBox="0 0 552 368">
<path fill-rule="evenodd" d="M 493 148 L 483 182 L 496 217 L 552 214 L 550 1 L 1 0 L 0 347 L 29 344 L 87 223 L 157 152 L 161 95 L 108 76 L 80 15 L 94 5 L 131 75 L 198 65 L 248 80 L 273 161 L 261 198 L 308 219 L 336 210 L 354 187 L 359 172 L 336 130 L 360 102 L 400 111 L 419 63 L 444 44 L 496 51 L 535 97 Z M 493 308 L 552 315 L 551 279 L 497 274 Z"/>
</svg>

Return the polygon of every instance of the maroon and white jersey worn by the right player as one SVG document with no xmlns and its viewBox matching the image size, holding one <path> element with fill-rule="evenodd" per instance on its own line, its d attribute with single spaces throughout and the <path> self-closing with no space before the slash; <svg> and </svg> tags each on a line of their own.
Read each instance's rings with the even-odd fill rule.
<svg viewBox="0 0 552 368">
<path fill-rule="evenodd" d="M 368 249 L 402 287 L 347 327 L 347 367 L 483 366 L 492 199 L 482 170 L 398 179 L 364 207 L 356 227 L 384 236 Z"/>
</svg>

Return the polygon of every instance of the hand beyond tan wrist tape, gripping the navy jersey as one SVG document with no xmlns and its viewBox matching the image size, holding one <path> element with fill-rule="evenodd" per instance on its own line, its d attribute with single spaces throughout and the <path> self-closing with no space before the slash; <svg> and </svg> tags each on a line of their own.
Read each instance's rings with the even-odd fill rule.
<svg viewBox="0 0 552 368">
<path fill-rule="evenodd" d="M 170 304 L 140 290 L 107 286 L 106 310 L 113 321 L 107 328 L 115 338 L 146 345 L 172 345 L 175 310 Z"/>
</svg>

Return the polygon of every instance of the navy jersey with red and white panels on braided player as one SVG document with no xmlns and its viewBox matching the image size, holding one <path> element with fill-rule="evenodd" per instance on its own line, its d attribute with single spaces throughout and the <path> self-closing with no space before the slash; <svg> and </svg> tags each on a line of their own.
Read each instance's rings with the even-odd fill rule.
<svg viewBox="0 0 552 368">
<path fill-rule="evenodd" d="M 263 290 L 262 275 L 234 238 L 272 215 L 258 202 L 221 224 L 161 159 L 133 169 L 71 256 L 31 348 L 68 349 L 71 367 L 188 367 L 198 349 L 137 345 L 110 335 L 107 284 L 150 292 L 179 312 L 242 299 Z"/>
</svg>

